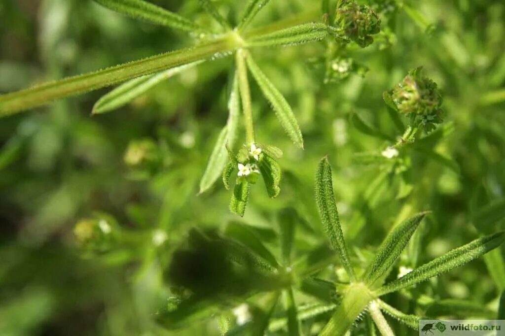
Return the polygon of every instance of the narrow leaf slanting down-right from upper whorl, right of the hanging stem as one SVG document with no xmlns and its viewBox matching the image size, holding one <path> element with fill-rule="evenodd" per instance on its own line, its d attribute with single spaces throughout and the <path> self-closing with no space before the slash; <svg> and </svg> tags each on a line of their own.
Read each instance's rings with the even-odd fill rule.
<svg viewBox="0 0 505 336">
<path fill-rule="evenodd" d="M 249 55 L 247 55 L 246 60 L 252 76 L 256 79 L 256 82 L 260 86 L 260 89 L 265 97 L 272 104 L 275 114 L 277 115 L 282 127 L 295 145 L 300 148 L 304 148 L 304 139 L 301 136 L 300 127 L 298 126 L 298 122 L 296 122 L 291 106 L 289 106 L 288 102 L 279 90 L 277 90 L 274 84 L 270 82 L 267 76 L 265 76 Z"/>
</svg>

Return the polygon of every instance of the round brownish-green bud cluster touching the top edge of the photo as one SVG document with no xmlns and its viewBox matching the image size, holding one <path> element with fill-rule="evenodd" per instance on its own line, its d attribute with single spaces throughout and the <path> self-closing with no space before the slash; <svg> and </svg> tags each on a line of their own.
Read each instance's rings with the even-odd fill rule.
<svg viewBox="0 0 505 336">
<path fill-rule="evenodd" d="M 373 34 L 380 32 L 380 18 L 366 5 L 358 5 L 354 0 L 340 0 L 335 11 L 335 26 L 347 38 L 362 48 L 370 45 Z"/>
</svg>

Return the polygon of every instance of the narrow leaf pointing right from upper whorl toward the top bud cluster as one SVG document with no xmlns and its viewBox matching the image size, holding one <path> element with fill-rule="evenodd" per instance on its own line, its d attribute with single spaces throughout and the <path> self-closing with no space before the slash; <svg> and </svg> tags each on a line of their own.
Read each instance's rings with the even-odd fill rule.
<svg viewBox="0 0 505 336">
<path fill-rule="evenodd" d="M 249 47 L 275 45 L 297 45 L 320 41 L 328 36 L 328 26 L 323 23 L 304 23 L 278 30 L 274 33 L 258 35 L 246 40 Z"/>
</svg>

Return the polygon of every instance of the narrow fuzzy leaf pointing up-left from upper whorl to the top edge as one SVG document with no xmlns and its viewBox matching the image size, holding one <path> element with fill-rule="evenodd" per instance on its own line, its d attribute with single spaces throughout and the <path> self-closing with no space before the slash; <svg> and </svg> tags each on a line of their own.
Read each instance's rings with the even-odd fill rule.
<svg viewBox="0 0 505 336">
<path fill-rule="evenodd" d="M 98 4 L 134 19 L 185 31 L 202 31 L 192 21 L 143 0 L 94 0 Z"/>
</svg>

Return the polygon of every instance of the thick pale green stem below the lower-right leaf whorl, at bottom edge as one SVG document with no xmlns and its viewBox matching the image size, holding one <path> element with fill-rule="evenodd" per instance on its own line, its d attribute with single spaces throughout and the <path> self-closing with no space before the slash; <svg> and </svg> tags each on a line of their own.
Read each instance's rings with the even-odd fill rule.
<svg viewBox="0 0 505 336">
<path fill-rule="evenodd" d="M 352 323 L 374 300 L 373 294 L 363 283 L 349 285 L 343 293 L 342 302 L 325 325 L 320 336 L 343 336 Z"/>
</svg>

